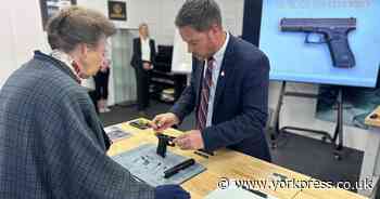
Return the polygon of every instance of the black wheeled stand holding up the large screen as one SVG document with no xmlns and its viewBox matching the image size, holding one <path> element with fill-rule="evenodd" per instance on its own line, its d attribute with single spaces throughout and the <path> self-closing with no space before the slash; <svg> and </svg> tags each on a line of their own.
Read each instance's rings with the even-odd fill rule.
<svg viewBox="0 0 380 199">
<path fill-rule="evenodd" d="M 304 97 L 304 98 L 318 98 L 317 94 L 311 94 L 311 93 L 300 93 L 300 92 L 287 92 L 287 82 L 282 81 L 281 90 L 280 90 L 280 96 L 278 100 L 277 108 L 275 111 L 275 131 L 271 131 L 270 133 L 270 141 L 271 141 L 271 148 L 277 148 L 278 144 L 278 137 L 282 133 L 288 133 L 288 130 L 295 130 L 295 131 L 304 131 L 309 132 L 314 134 L 320 134 L 321 140 L 324 142 L 329 141 L 332 146 L 334 147 L 333 156 L 337 160 L 340 160 L 342 158 L 342 149 L 343 149 L 343 95 L 342 95 L 342 88 L 339 88 L 338 98 L 337 98 L 337 105 L 338 105 L 338 111 L 337 111 L 337 125 L 335 131 L 333 134 L 333 137 L 326 132 L 320 130 L 313 130 L 313 129 L 305 129 L 305 128 L 297 128 L 297 127 L 283 127 L 280 128 L 279 121 L 280 121 L 280 111 L 282 107 L 282 101 L 284 96 L 295 96 L 295 97 Z M 337 143 L 337 140 L 339 137 L 339 143 Z"/>
</svg>

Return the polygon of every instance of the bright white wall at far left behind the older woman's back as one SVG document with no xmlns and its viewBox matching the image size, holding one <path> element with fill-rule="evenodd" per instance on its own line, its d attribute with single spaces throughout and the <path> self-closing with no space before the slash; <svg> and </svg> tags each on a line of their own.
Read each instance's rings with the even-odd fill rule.
<svg viewBox="0 0 380 199">
<path fill-rule="evenodd" d="M 7 1 L 0 6 L 0 88 L 12 71 L 33 56 L 34 50 L 47 49 L 37 2 Z"/>
</svg>

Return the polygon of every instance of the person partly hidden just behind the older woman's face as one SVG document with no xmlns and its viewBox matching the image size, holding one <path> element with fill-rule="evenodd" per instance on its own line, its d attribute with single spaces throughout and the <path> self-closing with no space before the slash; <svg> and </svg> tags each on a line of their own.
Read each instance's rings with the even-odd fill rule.
<svg viewBox="0 0 380 199">
<path fill-rule="evenodd" d="M 109 97 L 109 79 L 111 67 L 110 48 L 106 48 L 104 53 L 104 59 L 100 66 L 100 70 L 93 76 L 96 84 L 97 107 L 99 112 L 111 111 L 107 107 Z"/>
</svg>

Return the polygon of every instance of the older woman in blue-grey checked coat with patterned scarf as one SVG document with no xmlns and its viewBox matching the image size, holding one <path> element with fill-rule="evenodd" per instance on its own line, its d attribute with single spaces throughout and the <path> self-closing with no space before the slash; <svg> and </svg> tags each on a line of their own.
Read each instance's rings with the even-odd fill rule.
<svg viewBox="0 0 380 199">
<path fill-rule="evenodd" d="M 52 53 L 35 52 L 0 91 L 0 198 L 189 198 L 177 185 L 150 187 L 107 155 L 110 141 L 83 78 L 115 32 L 102 14 L 71 6 L 52 17 Z"/>
</svg>

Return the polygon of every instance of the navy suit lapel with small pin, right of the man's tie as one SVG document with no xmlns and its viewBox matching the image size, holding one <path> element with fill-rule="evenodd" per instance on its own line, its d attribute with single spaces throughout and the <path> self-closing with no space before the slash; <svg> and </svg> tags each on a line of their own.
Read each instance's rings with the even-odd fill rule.
<svg viewBox="0 0 380 199">
<path fill-rule="evenodd" d="M 233 36 L 230 35 L 229 42 L 227 43 L 227 49 L 221 62 L 221 67 L 218 76 L 218 81 L 216 85 L 215 91 L 215 98 L 214 98 L 214 110 L 217 106 L 220 95 L 223 94 L 225 90 L 226 82 L 229 80 L 229 78 L 232 75 L 233 69 Z"/>
</svg>

